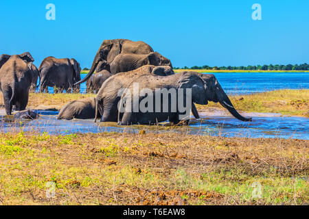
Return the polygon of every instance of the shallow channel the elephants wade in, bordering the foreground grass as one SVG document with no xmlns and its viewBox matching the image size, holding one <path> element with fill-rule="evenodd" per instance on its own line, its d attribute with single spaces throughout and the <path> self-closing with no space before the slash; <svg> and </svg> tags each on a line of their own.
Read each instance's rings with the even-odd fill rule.
<svg viewBox="0 0 309 219">
<path fill-rule="evenodd" d="M 1 116 L 0 131 L 36 131 L 51 134 L 61 133 L 98 133 L 117 131 L 137 133 L 179 132 L 196 135 L 247 137 L 247 138 L 298 138 L 309 140 L 309 118 L 280 116 L 279 114 L 243 114 L 253 116 L 252 122 L 246 123 L 225 112 L 201 112 L 201 119 L 192 120 L 188 127 L 169 127 L 165 123 L 158 126 L 133 125 L 117 126 L 116 123 L 94 123 L 93 120 L 57 120 L 58 112 L 38 111 L 41 115 L 36 120 L 12 120 Z"/>
</svg>

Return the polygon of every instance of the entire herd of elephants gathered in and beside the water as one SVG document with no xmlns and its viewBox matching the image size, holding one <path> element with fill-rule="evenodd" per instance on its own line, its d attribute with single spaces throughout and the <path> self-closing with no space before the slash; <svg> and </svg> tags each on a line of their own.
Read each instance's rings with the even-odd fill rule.
<svg viewBox="0 0 309 219">
<path fill-rule="evenodd" d="M 236 111 L 214 75 L 175 74 L 170 60 L 145 42 L 104 40 L 82 80 L 80 64 L 73 58 L 47 57 L 39 68 L 32 62 L 30 53 L 0 57 L 0 88 L 8 115 L 13 106 L 16 111 L 25 110 L 29 90 L 36 88 L 40 77 L 40 92 L 48 92 L 49 86 L 56 88 L 55 92 L 80 92 L 80 83 L 86 81 L 87 92 L 97 93 L 95 98 L 67 103 L 58 119 L 95 118 L 119 125 L 155 125 L 169 120 L 174 125 L 187 125 L 190 116 L 183 115 L 181 104 L 199 118 L 195 104 L 214 101 L 239 120 L 251 120 Z M 142 103 L 147 110 L 141 108 Z"/>
</svg>

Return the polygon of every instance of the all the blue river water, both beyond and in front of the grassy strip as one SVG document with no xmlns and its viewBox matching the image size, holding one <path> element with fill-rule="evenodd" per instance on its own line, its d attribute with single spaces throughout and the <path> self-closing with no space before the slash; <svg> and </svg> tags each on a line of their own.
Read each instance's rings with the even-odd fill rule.
<svg viewBox="0 0 309 219">
<path fill-rule="evenodd" d="M 309 89 L 309 73 L 214 73 L 228 94 L 250 94 L 278 89 Z M 82 78 L 85 75 L 82 75 Z M 85 83 L 81 92 L 85 92 Z M 49 92 L 53 92 L 49 88 Z M 188 127 L 117 126 L 116 123 L 93 123 L 93 120 L 57 120 L 58 112 L 38 111 L 37 120 L 12 121 L 1 116 L 0 131 L 38 131 L 40 133 L 98 133 L 102 131 L 133 132 L 185 132 L 189 134 L 246 137 L 246 138 L 298 138 L 309 140 L 309 118 L 280 114 L 245 114 L 252 122 L 242 122 L 223 112 L 201 112 L 201 119 L 192 120 Z M 2 113 L 3 114 L 3 113 Z"/>
</svg>

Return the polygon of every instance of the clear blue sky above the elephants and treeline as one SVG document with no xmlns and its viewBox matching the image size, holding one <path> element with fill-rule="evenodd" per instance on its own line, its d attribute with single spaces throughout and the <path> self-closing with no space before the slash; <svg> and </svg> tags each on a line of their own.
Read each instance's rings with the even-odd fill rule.
<svg viewBox="0 0 309 219">
<path fill-rule="evenodd" d="M 47 21 L 47 3 L 56 21 Z M 253 3 L 262 21 L 253 21 Z M 90 67 L 104 39 L 143 40 L 173 66 L 309 62 L 309 1 L 0 1 L 0 53 L 74 57 Z"/>
</svg>

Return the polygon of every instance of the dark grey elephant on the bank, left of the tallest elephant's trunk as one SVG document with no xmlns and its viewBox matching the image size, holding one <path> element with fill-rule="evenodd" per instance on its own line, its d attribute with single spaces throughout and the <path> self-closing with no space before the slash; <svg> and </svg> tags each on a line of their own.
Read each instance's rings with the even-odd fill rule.
<svg viewBox="0 0 309 219">
<path fill-rule="evenodd" d="M 40 71 L 40 92 L 48 92 L 48 87 L 56 87 L 55 92 L 80 92 L 80 86 L 73 86 L 80 80 L 80 64 L 68 58 L 46 57 L 38 68 Z"/>
</svg>

